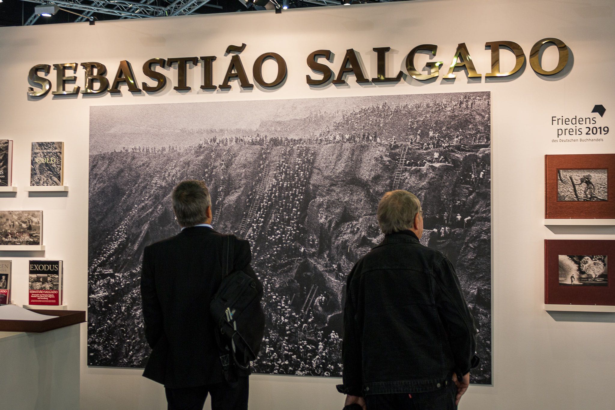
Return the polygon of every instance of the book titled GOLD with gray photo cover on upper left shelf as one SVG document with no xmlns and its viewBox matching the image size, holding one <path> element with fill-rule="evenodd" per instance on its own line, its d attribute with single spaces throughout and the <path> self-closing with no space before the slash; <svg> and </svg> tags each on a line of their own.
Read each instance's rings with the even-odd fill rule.
<svg viewBox="0 0 615 410">
<path fill-rule="evenodd" d="M 32 143 L 31 186 L 60 186 L 63 178 L 64 143 Z"/>
</svg>

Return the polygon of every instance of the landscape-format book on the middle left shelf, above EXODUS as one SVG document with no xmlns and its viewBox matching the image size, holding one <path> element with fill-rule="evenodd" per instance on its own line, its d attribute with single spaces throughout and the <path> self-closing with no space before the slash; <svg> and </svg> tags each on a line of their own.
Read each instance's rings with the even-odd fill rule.
<svg viewBox="0 0 615 410">
<path fill-rule="evenodd" d="M 42 245 L 42 211 L 0 211 L 0 245 Z"/>
</svg>

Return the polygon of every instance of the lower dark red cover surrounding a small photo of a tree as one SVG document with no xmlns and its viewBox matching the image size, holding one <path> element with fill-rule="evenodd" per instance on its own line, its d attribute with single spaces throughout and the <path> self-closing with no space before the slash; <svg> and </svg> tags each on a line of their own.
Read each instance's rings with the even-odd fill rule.
<svg viewBox="0 0 615 410">
<path fill-rule="evenodd" d="M 560 284 L 560 255 L 605 255 L 605 286 Z M 615 240 L 544 241 L 544 302 L 553 305 L 615 306 Z"/>
</svg>

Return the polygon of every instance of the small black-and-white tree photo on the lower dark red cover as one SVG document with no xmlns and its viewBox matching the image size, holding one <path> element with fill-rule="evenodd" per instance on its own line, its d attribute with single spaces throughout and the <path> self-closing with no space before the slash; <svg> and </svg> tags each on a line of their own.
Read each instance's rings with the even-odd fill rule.
<svg viewBox="0 0 615 410">
<path fill-rule="evenodd" d="M 558 255 L 560 286 L 607 286 L 606 255 Z"/>
</svg>

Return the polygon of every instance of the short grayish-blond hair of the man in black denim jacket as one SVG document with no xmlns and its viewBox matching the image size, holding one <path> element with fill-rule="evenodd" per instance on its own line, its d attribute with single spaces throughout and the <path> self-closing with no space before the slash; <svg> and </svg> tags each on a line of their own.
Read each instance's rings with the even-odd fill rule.
<svg viewBox="0 0 615 410">
<path fill-rule="evenodd" d="M 404 231 L 414 226 L 421 202 L 416 195 L 397 189 L 389 191 L 378 203 L 378 224 L 383 234 Z"/>
</svg>

